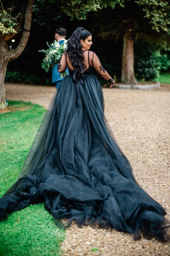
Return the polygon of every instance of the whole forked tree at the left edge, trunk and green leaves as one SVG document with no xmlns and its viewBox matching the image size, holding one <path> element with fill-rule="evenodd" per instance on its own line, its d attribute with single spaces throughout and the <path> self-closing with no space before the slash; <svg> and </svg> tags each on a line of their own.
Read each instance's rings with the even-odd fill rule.
<svg viewBox="0 0 170 256">
<path fill-rule="evenodd" d="M 0 0 L 0 109 L 6 108 L 4 80 L 8 62 L 17 58 L 26 47 L 30 35 L 34 0 Z M 16 49 L 8 47 L 6 41 L 22 28 Z"/>
</svg>

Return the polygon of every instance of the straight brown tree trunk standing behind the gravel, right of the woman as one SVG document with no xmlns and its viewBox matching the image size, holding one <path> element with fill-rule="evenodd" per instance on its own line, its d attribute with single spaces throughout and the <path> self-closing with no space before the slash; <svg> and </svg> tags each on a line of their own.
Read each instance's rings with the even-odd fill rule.
<svg viewBox="0 0 170 256">
<path fill-rule="evenodd" d="M 121 81 L 126 84 L 137 84 L 134 75 L 133 38 L 130 34 L 130 29 L 127 29 L 123 38 Z"/>
</svg>

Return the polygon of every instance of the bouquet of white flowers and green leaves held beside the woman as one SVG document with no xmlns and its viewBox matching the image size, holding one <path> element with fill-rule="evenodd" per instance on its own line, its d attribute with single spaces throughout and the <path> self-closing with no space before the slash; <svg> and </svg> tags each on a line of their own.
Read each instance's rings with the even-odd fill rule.
<svg viewBox="0 0 170 256">
<path fill-rule="evenodd" d="M 69 40 L 69 39 L 68 39 Z M 39 52 L 44 52 L 45 53 L 45 58 L 42 61 L 41 67 L 48 72 L 51 67 L 54 67 L 55 64 L 59 64 L 62 54 L 66 51 L 67 49 L 67 43 L 68 40 L 65 40 L 63 44 L 59 44 L 56 40 L 52 44 L 48 44 L 47 50 L 39 50 Z M 67 76 L 66 71 L 64 73 L 60 74 L 61 77 Z"/>
</svg>

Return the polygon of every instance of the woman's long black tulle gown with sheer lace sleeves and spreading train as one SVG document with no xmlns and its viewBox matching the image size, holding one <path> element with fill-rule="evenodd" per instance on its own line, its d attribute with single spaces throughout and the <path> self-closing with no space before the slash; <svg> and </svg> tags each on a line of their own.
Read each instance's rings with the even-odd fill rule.
<svg viewBox="0 0 170 256">
<path fill-rule="evenodd" d="M 44 201 L 54 218 L 99 223 L 116 230 L 162 233 L 165 210 L 133 177 L 104 116 L 104 101 L 93 68 L 111 81 L 93 52 L 85 51 L 86 70 L 76 81 L 68 66 L 40 125 L 19 180 L 0 199 L 0 217 Z"/>
</svg>

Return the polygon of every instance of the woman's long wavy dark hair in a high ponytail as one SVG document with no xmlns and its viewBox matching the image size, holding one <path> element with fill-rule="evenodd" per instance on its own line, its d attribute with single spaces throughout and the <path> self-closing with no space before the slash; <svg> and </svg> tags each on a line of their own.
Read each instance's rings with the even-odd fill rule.
<svg viewBox="0 0 170 256">
<path fill-rule="evenodd" d="M 74 73 L 77 79 L 80 79 L 85 72 L 84 55 L 82 53 L 82 44 L 80 40 L 82 39 L 85 41 L 90 35 L 91 33 L 88 30 L 78 27 L 74 30 L 68 41 L 68 57 L 74 67 Z"/>
</svg>

